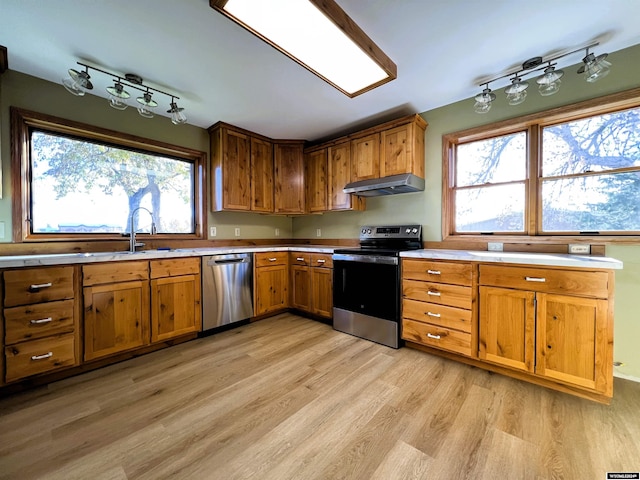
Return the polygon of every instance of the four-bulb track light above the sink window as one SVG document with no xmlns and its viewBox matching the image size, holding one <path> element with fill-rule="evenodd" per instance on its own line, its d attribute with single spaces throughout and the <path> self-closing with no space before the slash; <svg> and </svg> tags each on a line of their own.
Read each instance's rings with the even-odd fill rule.
<svg viewBox="0 0 640 480">
<path fill-rule="evenodd" d="M 62 85 L 69 93 L 81 97 L 87 91 L 92 90 L 93 84 L 90 80 L 91 75 L 89 74 L 89 70 L 95 70 L 96 72 L 104 73 L 105 75 L 113 77 L 113 85 L 106 89 L 109 94 L 109 106 L 112 108 L 115 108 L 116 110 L 125 110 L 129 106 L 127 104 L 127 100 L 131 97 L 131 94 L 125 89 L 125 87 L 132 88 L 142 92 L 142 95 L 136 98 L 136 102 L 138 102 L 138 113 L 145 118 L 153 118 L 153 109 L 158 106 L 158 102 L 156 102 L 152 97 L 154 93 L 159 93 L 171 98 L 171 102 L 169 103 L 170 109 L 167 110 L 167 113 L 171 114 L 171 122 L 175 125 L 187 122 L 187 117 L 184 114 L 184 108 L 178 107 L 176 104 L 176 100 L 180 100 L 180 97 L 163 92 L 157 88 L 144 85 L 142 77 L 139 75 L 127 73 L 124 77 L 121 77 L 120 75 L 116 75 L 96 67 L 90 67 L 89 65 L 81 62 L 78 62 L 78 65 L 84 67 L 84 70 L 77 71 L 71 68 L 67 72 L 69 76 L 62 80 Z"/>
</svg>

